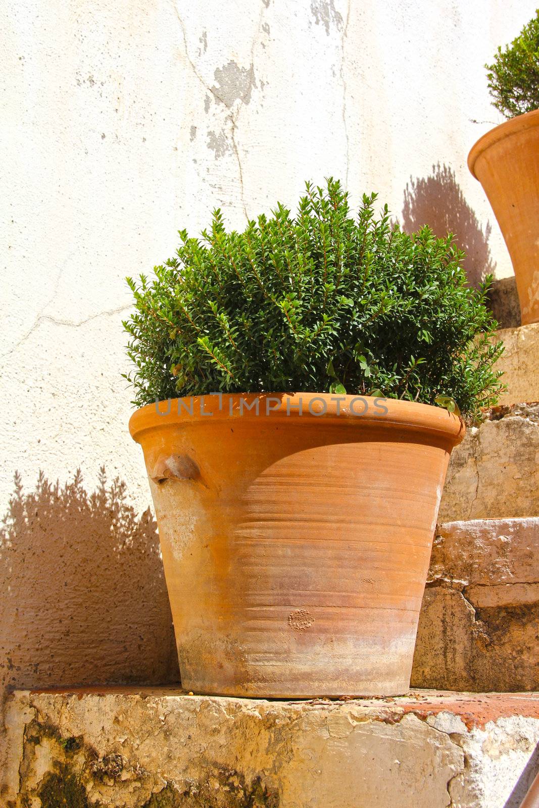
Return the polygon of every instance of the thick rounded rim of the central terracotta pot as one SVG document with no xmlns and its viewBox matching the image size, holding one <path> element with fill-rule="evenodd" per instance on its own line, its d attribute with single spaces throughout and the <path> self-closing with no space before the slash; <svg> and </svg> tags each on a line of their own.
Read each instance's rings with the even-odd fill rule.
<svg viewBox="0 0 539 808">
<path fill-rule="evenodd" d="M 171 398 L 156 404 L 147 404 L 133 412 L 129 419 L 129 432 L 133 440 L 141 442 L 143 432 L 155 427 L 182 427 L 187 423 L 203 425 L 209 417 L 213 421 L 248 419 L 263 423 L 272 419 L 283 423 L 313 423 L 358 427 L 374 424 L 385 428 L 409 429 L 438 436 L 453 448 L 465 436 L 461 417 L 440 406 L 402 401 L 397 398 L 342 395 L 336 393 L 207 393 L 204 396 Z M 259 400 L 259 412 L 255 401 Z M 280 399 L 280 400 L 279 400 Z M 268 401 L 271 400 L 271 401 Z M 240 402 L 243 402 L 240 404 Z M 301 401 L 301 414 L 299 411 Z M 179 402 L 182 402 L 181 404 Z M 260 406 L 260 402 L 266 402 Z M 221 407 L 220 407 L 221 403 Z M 253 409 L 246 409 L 253 406 Z M 267 407 L 271 407 L 267 411 Z M 159 411 L 158 411 L 159 410 Z M 179 411 L 181 410 L 181 411 Z M 386 411 L 385 411 L 386 410 Z"/>
</svg>

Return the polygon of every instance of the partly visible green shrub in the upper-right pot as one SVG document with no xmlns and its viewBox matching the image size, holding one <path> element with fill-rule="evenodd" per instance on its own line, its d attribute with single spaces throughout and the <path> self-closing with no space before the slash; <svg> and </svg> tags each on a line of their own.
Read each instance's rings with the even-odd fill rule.
<svg viewBox="0 0 539 808">
<path fill-rule="evenodd" d="M 510 45 L 485 65 L 493 104 L 506 118 L 539 109 L 539 9 Z"/>
</svg>

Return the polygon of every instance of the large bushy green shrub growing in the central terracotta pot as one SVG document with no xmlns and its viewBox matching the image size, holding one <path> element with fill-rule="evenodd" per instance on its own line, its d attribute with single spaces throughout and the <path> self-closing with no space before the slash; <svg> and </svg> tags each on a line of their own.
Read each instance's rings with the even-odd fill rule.
<svg viewBox="0 0 539 808">
<path fill-rule="evenodd" d="M 380 391 L 463 414 L 495 403 L 488 282 L 466 284 L 453 237 L 402 233 L 375 194 L 352 218 L 333 179 L 306 189 L 295 217 L 278 204 L 243 233 L 216 210 L 204 241 L 180 231 L 151 283 L 128 279 L 133 403 L 221 390 Z"/>
</svg>

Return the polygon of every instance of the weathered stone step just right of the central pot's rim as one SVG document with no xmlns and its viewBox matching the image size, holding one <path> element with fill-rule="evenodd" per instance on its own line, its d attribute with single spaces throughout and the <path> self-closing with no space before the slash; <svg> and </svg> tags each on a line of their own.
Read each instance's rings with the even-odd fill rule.
<svg viewBox="0 0 539 808">
<path fill-rule="evenodd" d="M 539 516 L 537 403 L 488 410 L 449 463 L 439 522 L 508 516 Z"/>
</svg>

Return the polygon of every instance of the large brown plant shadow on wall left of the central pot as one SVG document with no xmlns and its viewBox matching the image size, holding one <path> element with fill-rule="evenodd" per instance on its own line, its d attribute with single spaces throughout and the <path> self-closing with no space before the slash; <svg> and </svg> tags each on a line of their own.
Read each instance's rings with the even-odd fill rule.
<svg viewBox="0 0 539 808">
<path fill-rule="evenodd" d="M 104 469 L 61 488 L 19 474 L 0 532 L 0 684 L 46 688 L 179 681 L 151 512 Z M 2 670 L 3 668 L 3 670 Z"/>
</svg>

